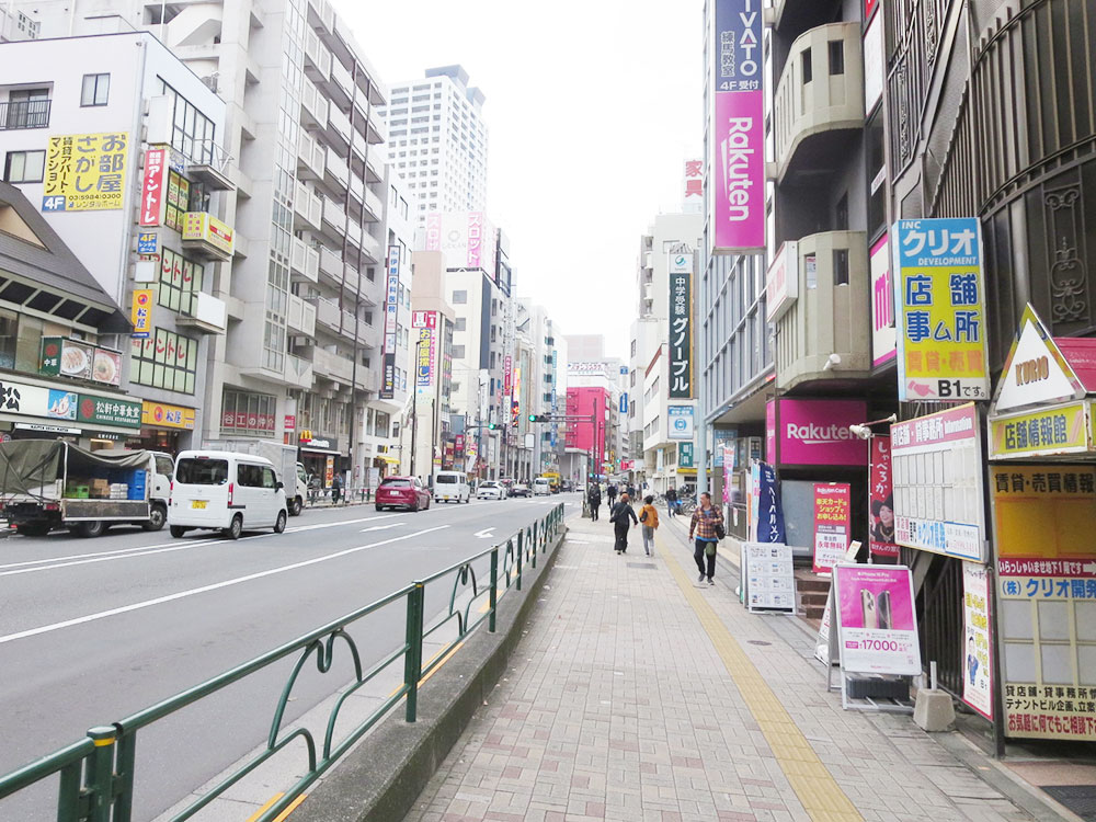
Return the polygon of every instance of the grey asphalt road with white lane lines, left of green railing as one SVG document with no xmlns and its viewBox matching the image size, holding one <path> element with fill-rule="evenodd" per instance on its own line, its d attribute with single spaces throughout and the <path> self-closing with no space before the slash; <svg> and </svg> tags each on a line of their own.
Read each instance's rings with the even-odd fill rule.
<svg viewBox="0 0 1096 822">
<path fill-rule="evenodd" d="M 0 541 L 0 774 L 243 663 L 489 548 L 544 516 L 549 499 L 315 509 L 285 534 L 237 543 L 116 528 Z M 486 566 L 484 566 L 486 571 Z M 481 579 L 483 579 L 481 576 Z M 452 591 L 427 589 L 427 619 Z M 402 643 L 402 603 L 354 635 L 366 666 Z M 347 658 L 343 658 L 345 661 Z M 138 734 L 138 807 L 151 819 L 255 744 L 295 660 L 285 660 Z M 288 719 L 352 678 L 302 676 Z M 315 667 L 309 665 L 315 673 Z M 0 820 L 53 818 L 56 783 L 0 801 Z"/>
</svg>

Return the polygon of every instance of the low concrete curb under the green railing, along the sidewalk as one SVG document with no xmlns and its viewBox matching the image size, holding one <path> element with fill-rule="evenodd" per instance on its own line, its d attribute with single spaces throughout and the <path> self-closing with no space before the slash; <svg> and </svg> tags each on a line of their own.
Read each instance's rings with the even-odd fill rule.
<svg viewBox="0 0 1096 822">
<path fill-rule="evenodd" d="M 487 705 L 521 641 L 538 595 L 567 538 L 563 534 L 523 573 L 524 589 L 499 603 L 496 632 L 480 629 L 419 689 L 418 721 L 402 703 L 294 811 L 293 822 L 391 822 L 413 808 L 431 777 Z"/>
</svg>

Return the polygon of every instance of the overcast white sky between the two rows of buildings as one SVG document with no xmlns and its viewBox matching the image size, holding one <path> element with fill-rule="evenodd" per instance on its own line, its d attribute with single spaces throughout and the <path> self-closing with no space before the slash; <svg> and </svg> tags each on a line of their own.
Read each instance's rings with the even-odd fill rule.
<svg viewBox="0 0 1096 822">
<path fill-rule="evenodd" d="M 460 64 L 518 293 L 627 358 L 639 236 L 701 150 L 703 0 L 333 0 L 381 81 Z"/>
</svg>

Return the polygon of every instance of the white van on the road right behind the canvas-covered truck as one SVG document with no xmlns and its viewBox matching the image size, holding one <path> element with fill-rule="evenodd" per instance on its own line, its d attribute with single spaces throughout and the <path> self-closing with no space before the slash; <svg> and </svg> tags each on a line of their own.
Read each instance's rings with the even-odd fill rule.
<svg viewBox="0 0 1096 822">
<path fill-rule="evenodd" d="M 193 528 L 220 529 L 230 539 L 246 528 L 281 534 L 287 516 L 285 488 L 269 459 L 225 450 L 184 450 L 175 459 L 171 536 Z"/>
</svg>

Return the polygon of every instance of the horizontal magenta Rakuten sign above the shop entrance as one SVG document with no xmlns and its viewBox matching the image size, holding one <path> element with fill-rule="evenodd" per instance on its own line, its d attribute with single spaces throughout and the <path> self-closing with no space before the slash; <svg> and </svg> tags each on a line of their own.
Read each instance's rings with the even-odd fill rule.
<svg viewBox="0 0 1096 822">
<path fill-rule="evenodd" d="M 868 443 L 849 425 L 867 420 L 859 400 L 775 400 L 780 465 L 868 464 Z M 769 403 L 770 406 L 773 402 Z"/>
</svg>

